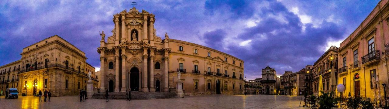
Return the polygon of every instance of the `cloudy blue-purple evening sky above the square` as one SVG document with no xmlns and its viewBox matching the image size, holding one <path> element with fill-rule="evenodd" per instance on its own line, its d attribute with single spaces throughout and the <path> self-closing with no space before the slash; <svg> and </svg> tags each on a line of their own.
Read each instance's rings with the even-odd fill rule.
<svg viewBox="0 0 389 109">
<path fill-rule="evenodd" d="M 114 28 L 113 14 L 132 0 L 1 0 L 0 65 L 21 59 L 22 49 L 59 35 L 100 67 L 99 31 Z M 158 36 L 212 47 L 245 61 L 247 79 L 274 67 L 277 75 L 312 65 L 329 46 L 352 33 L 379 0 L 151 0 L 138 10 L 156 15 Z M 162 37 L 164 38 L 164 37 Z"/>
</svg>

